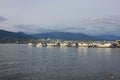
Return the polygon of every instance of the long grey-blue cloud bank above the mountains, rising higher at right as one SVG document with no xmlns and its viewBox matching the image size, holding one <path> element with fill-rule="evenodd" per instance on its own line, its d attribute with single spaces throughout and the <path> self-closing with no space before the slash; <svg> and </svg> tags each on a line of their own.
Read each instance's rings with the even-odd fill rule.
<svg viewBox="0 0 120 80">
<path fill-rule="evenodd" d="M 26 33 L 44 33 L 44 32 L 73 32 L 85 33 L 89 35 L 101 34 L 120 34 L 120 18 L 119 17 L 101 17 L 94 19 L 87 19 L 77 25 L 15 25 L 14 28 Z"/>
</svg>

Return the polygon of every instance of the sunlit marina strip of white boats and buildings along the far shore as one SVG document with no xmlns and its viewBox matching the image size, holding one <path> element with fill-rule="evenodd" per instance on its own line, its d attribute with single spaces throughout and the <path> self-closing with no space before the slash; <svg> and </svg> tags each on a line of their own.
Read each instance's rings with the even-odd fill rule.
<svg viewBox="0 0 120 80">
<path fill-rule="evenodd" d="M 77 47 L 77 48 L 118 48 L 119 40 L 116 41 L 67 41 L 56 39 L 44 39 L 29 42 L 28 46 L 35 47 Z"/>
</svg>

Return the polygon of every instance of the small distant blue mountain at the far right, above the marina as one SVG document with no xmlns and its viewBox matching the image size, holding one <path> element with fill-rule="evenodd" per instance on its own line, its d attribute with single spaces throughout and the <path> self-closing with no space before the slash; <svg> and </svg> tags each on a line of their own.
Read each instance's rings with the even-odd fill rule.
<svg viewBox="0 0 120 80">
<path fill-rule="evenodd" d="M 97 39 L 111 40 L 111 41 L 120 39 L 120 36 L 116 36 L 116 35 L 97 35 L 94 37 L 96 37 Z"/>
</svg>

